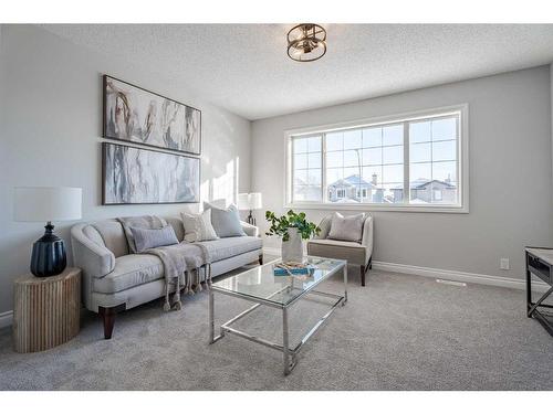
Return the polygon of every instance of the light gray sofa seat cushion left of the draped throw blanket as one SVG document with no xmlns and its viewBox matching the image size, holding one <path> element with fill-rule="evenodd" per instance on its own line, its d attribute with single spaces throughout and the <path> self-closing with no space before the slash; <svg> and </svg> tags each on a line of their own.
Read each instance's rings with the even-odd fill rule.
<svg viewBox="0 0 553 414">
<path fill-rule="evenodd" d="M 164 277 L 161 261 L 150 254 L 129 254 L 115 259 L 115 268 L 102 278 L 94 278 L 94 291 L 113 294 Z"/>
</svg>

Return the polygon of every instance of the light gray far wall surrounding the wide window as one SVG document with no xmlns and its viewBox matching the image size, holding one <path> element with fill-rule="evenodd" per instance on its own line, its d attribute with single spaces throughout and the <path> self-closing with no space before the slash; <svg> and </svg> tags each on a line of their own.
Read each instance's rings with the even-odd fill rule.
<svg viewBox="0 0 553 414">
<path fill-rule="evenodd" d="M 374 212 L 374 258 L 522 278 L 524 245 L 553 245 L 551 88 L 542 66 L 253 121 L 252 191 L 283 212 L 284 130 L 468 103 L 470 213 Z"/>
</svg>

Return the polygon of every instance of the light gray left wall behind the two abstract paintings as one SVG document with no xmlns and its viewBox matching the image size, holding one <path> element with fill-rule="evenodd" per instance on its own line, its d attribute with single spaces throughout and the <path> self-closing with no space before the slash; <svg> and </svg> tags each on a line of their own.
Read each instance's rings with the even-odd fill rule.
<svg viewBox="0 0 553 414">
<path fill-rule="evenodd" d="M 13 222 L 13 187 L 81 187 L 83 220 L 174 214 L 197 208 L 196 204 L 101 205 L 101 76 L 104 73 L 201 109 L 202 199 L 249 191 L 250 121 L 192 96 L 186 79 L 154 76 L 139 65 L 79 47 L 40 28 L 3 25 L 0 43 L 0 314 L 11 309 L 11 280 L 28 272 L 32 242 L 43 233 L 42 223 Z M 69 242 L 72 223 L 54 224 Z"/>
</svg>

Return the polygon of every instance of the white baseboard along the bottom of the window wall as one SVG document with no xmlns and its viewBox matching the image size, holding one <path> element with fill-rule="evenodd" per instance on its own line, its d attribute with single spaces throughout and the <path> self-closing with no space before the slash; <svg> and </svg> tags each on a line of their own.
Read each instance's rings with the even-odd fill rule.
<svg viewBox="0 0 553 414">
<path fill-rule="evenodd" d="M 263 253 L 273 256 L 280 256 L 280 248 L 263 247 Z M 446 270 L 432 267 L 410 266 L 397 263 L 376 262 L 376 261 L 373 262 L 373 268 L 385 272 L 432 277 L 432 278 L 440 278 L 440 279 L 448 279 L 456 282 L 466 282 L 479 285 L 509 287 L 511 289 L 524 290 L 526 288 L 525 280 L 513 279 L 511 277 L 480 275 L 477 273 Z M 532 280 L 532 288 L 534 291 L 546 291 L 549 289 L 549 286 L 543 282 Z"/>
</svg>

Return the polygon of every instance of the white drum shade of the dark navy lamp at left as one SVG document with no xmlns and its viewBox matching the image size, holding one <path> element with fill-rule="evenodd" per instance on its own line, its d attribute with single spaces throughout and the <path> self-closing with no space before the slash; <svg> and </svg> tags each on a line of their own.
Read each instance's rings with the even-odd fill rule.
<svg viewBox="0 0 553 414">
<path fill-rule="evenodd" d="M 17 187 L 14 215 L 18 222 L 81 219 L 83 190 L 73 187 Z"/>
</svg>

